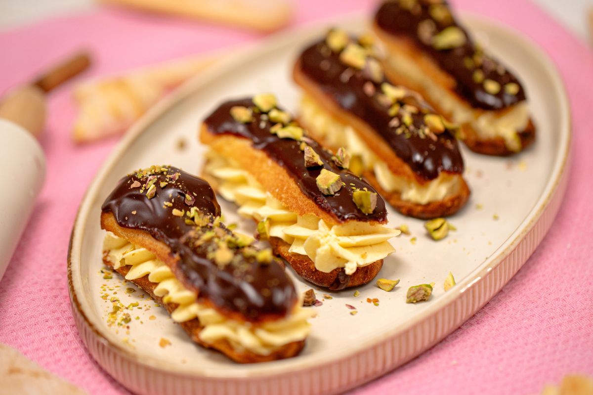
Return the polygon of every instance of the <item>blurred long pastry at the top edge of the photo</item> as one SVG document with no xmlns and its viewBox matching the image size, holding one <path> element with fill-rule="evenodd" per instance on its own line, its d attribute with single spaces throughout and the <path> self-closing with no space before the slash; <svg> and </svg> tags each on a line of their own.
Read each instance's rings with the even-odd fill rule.
<svg viewBox="0 0 593 395">
<path fill-rule="evenodd" d="M 213 21 L 260 31 L 273 31 L 292 17 L 288 0 L 100 0 L 144 11 Z"/>
</svg>

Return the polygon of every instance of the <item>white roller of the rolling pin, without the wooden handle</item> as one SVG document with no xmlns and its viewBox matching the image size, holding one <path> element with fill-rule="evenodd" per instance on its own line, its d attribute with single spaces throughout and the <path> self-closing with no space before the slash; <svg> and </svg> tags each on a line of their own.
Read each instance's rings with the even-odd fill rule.
<svg viewBox="0 0 593 395">
<path fill-rule="evenodd" d="M 33 135 L 9 120 L 0 119 L 0 141 L 0 158 L 6 187 L 0 193 L 2 279 L 43 186 L 45 157 Z"/>
</svg>

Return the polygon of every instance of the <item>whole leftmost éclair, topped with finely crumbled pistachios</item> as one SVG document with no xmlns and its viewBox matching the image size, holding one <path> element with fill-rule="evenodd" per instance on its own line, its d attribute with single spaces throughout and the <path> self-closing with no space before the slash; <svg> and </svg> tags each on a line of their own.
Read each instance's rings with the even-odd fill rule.
<svg viewBox="0 0 593 395">
<path fill-rule="evenodd" d="M 221 222 L 209 184 L 171 166 L 123 177 L 103 203 L 103 261 L 192 340 L 236 362 L 297 355 L 311 311 L 269 249 Z"/>
</svg>

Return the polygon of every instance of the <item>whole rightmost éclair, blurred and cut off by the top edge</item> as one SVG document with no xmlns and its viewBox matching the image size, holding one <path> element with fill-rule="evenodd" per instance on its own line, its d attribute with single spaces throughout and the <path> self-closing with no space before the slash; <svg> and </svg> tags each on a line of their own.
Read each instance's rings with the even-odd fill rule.
<svg viewBox="0 0 593 395">
<path fill-rule="evenodd" d="M 447 1 L 384 2 L 374 31 L 386 47 L 388 76 L 462 125 L 470 149 L 510 155 L 534 141 L 521 82 L 474 42 Z"/>
</svg>

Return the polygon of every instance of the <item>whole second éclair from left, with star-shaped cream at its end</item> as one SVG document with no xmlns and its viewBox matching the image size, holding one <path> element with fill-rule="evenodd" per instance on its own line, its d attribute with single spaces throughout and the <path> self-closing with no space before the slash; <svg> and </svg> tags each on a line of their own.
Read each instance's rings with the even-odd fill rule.
<svg viewBox="0 0 593 395">
<path fill-rule="evenodd" d="M 271 94 L 227 101 L 203 122 L 210 148 L 204 177 L 238 212 L 258 222 L 260 238 L 295 272 L 343 289 L 371 281 L 387 241 L 387 211 L 377 191 L 307 136 Z"/>
</svg>

